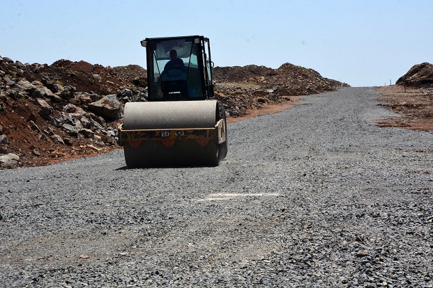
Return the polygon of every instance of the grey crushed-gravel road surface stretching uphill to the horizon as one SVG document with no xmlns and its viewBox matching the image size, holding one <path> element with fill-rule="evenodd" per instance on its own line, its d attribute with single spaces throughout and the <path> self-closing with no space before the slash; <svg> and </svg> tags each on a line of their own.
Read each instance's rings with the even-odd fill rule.
<svg viewBox="0 0 433 288">
<path fill-rule="evenodd" d="M 0 287 L 433 287 L 433 133 L 377 97 L 234 122 L 216 168 L 0 170 Z"/>
</svg>

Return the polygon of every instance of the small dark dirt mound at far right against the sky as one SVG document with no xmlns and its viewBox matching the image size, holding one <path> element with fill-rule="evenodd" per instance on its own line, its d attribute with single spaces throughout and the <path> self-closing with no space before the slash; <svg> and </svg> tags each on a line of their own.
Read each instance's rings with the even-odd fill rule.
<svg viewBox="0 0 433 288">
<path fill-rule="evenodd" d="M 433 65 L 427 62 L 414 65 L 395 84 L 416 88 L 433 88 Z"/>
</svg>

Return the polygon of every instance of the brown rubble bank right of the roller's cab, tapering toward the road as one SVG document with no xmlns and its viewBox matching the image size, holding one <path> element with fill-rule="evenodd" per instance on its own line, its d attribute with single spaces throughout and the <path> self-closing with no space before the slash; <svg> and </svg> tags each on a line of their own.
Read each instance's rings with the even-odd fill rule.
<svg viewBox="0 0 433 288">
<path fill-rule="evenodd" d="M 263 104 L 287 102 L 296 95 L 310 95 L 349 87 L 321 77 L 312 69 L 284 63 L 278 69 L 265 66 L 215 67 L 217 98 L 226 106 L 227 113 L 239 116 Z"/>
</svg>

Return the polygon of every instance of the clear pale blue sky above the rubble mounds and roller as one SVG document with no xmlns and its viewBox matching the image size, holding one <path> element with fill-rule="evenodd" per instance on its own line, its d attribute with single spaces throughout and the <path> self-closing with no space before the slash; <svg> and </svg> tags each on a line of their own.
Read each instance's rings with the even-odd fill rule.
<svg viewBox="0 0 433 288">
<path fill-rule="evenodd" d="M 433 0 L 0 0 L 0 56 L 146 68 L 144 38 L 204 35 L 215 66 L 292 63 L 383 86 L 433 63 Z"/>
</svg>

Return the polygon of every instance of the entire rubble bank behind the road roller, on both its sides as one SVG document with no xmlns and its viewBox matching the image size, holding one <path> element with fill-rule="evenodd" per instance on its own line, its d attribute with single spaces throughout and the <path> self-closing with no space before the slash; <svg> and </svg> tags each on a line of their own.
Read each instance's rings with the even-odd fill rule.
<svg viewBox="0 0 433 288">
<path fill-rule="evenodd" d="M 215 95 L 241 116 L 294 95 L 348 86 L 286 63 L 215 67 Z M 41 166 L 119 148 L 123 104 L 146 101 L 146 70 L 61 59 L 52 65 L 0 57 L 0 168 Z"/>
</svg>

